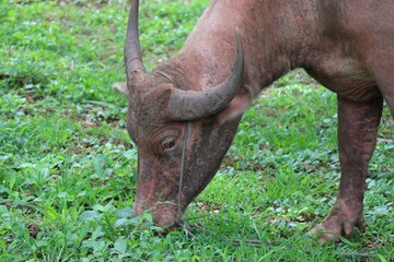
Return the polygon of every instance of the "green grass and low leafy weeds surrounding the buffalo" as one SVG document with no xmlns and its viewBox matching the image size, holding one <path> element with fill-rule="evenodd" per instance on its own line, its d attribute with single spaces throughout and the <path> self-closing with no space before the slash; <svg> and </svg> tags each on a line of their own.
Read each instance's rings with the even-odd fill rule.
<svg viewBox="0 0 394 262">
<path fill-rule="evenodd" d="M 178 50 L 208 1 L 143 1 L 146 63 Z M 126 1 L 0 1 L 0 261 L 390 261 L 394 132 L 384 110 L 368 228 L 303 237 L 335 201 L 336 98 L 302 71 L 263 92 L 187 229 L 130 218 L 137 148 L 125 129 Z"/>
</svg>

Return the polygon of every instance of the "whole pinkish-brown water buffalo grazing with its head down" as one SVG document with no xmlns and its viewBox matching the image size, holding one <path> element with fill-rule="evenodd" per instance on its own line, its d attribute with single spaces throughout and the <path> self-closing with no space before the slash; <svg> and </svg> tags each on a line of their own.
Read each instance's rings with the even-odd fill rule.
<svg viewBox="0 0 394 262">
<path fill-rule="evenodd" d="M 135 215 L 178 224 L 217 172 L 243 111 L 262 88 L 303 68 L 337 94 L 341 165 L 336 203 L 311 233 L 327 241 L 364 229 L 383 100 L 394 116 L 393 0 L 212 0 L 182 50 L 152 72 L 142 62 L 138 5 L 125 48 Z"/>
</svg>

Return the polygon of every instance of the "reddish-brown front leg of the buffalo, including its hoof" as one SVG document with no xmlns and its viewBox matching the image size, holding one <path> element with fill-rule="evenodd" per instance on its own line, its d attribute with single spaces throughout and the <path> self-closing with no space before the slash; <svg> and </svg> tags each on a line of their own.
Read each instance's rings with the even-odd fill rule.
<svg viewBox="0 0 394 262">
<path fill-rule="evenodd" d="M 338 148 L 341 165 L 339 193 L 331 214 L 309 234 L 322 243 L 364 230 L 362 201 L 368 163 L 376 145 L 382 97 L 351 102 L 338 96 Z"/>
</svg>

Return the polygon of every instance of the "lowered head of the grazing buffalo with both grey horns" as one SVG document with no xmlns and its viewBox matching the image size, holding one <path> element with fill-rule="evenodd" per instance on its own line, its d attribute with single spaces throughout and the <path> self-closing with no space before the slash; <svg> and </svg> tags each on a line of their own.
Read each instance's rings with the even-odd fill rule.
<svg viewBox="0 0 394 262">
<path fill-rule="evenodd" d="M 179 70 L 172 60 L 146 71 L 138 35 L 138 1 L 134 1 L 125 63 L 128 132 L 138 146 L 135 215 L 147 211 L 159 226 L 177 224 L 218 170 L 240 121 L 240 116 L 225 122 L 217 117 L 239 93 L 242 81 L 243 50 L 240 34 L 234 35 L 235 55 L 227 79 L 202 87 L 193 85 L 198 80 L 188 79 L 192 85 L 184 86 L 185 80 L 171 73 Z"/>
</svg>

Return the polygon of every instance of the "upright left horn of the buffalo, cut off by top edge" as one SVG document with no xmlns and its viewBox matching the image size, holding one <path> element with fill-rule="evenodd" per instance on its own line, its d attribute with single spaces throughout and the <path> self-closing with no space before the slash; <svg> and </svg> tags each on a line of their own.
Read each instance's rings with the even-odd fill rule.
<svg viewBox="0 0 394 262">
<path fill-rule="evenodd" d="M 146 71 L 142 62 L 141 47 L 138 34 L 138 0 L 132 1 L 127 23 L 127 36 L 125 46 L 125 64 L 127 79 L 131 78 L 132 73 Z"/>
</svg>

